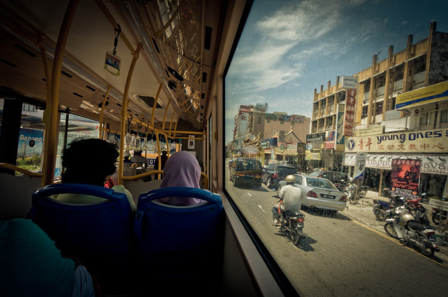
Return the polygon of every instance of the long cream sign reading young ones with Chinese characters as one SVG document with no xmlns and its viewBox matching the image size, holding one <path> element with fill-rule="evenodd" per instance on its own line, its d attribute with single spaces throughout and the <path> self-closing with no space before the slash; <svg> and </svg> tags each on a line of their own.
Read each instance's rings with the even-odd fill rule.
<svg viewBox="0 0 448 297">
<path fill-rule="evenodd" d="M 403 132 L 347 139 L 346 152 L 444 153 L 448 150 L 448 129 Z"/>
</svg>

